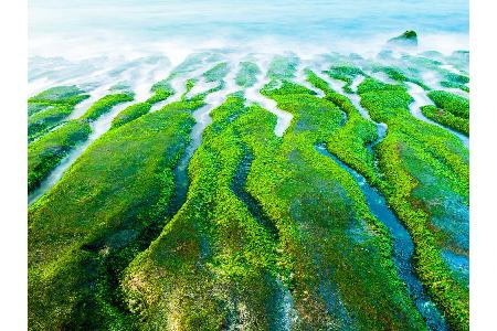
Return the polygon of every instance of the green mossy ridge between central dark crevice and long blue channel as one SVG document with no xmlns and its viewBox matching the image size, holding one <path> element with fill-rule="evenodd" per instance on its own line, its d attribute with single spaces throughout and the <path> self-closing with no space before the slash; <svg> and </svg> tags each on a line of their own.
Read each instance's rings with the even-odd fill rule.
<svg viewBox="0 0 497 331">
<path fill-rule="evenodd" d="M 314 148 L 340 131 L 341 110 L 308 94 L 267 90 L 267 95 L 281 109 L 292 113 L 294 120 L 279 147 L 261 137 L 263 132 L 257 134 L 262 131 L 260 120 L 251 118 L 245 124 L 250 128 L 248 122 L 254 122 L 252 129 L 244 129 L 244 137 L 256 157 L 247 185 L 278 227 L 285 252 L 282 264 L 292 275 L 294 302 L 302 318 L 296 328 L 326 329 L 335 324 L 423 329 L 391 263 L 387 229 L 368 212 L 353 179 Z M 350 235 L 350 231 L 359 233 L 361 239 Z M 359 248 L 361 245 L 369 247 L 364 248 L 368 254 Z M 353 267 L 345 266 L 342 260 L 355 260 Z M 368 265 L 368 270 L 361 269 L 362 265 Z M 335 270 L 332 276 L 326 274 L 327 268 Z M 368 273 L 368 277 L 362 273 Z M 352 286 L 349 279 L 364 281 Z M 332 296 L 339 296 L 343 307 L 327 311 L 329 302 L 319 291 L 322 288 L 337 291 Z M 387 307 L 403 311 L 399 312 L 403 318 L 391 310 L 385 313 Z M 347 314 L 353 318 L 348 320 Z"/>
</svg>

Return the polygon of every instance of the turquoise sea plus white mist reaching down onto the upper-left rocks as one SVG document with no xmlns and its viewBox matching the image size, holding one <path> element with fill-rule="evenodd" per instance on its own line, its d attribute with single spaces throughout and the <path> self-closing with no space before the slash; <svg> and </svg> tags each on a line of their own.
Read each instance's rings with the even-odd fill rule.
<svg viewBox="0 0 497 331">
<path fill-rule="evenodd" d="M 405 30 L 419 33 L 416 52 L 467 50 L 467 0 L 30 0 L 29 95 L 75 84 L 94 90 L 94 100 L 117 83 L 120 71 L 129 72 L 127 66 L 144 67 L 146 58 L 162 57 L 155 75 L 138 84 L 148 90 L 203 51 L 223 54 L 232 64 L 258 54 L 260 65 L 292 52 L 302 71 L 319 54 L 374 56 Z M 297 79 L 306 85 L 302 78 L 299 72 Z M 184 88 L 184 79 L 171 83 Z"/>
</svg>

